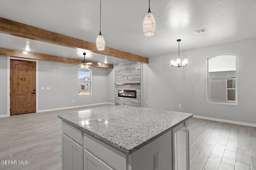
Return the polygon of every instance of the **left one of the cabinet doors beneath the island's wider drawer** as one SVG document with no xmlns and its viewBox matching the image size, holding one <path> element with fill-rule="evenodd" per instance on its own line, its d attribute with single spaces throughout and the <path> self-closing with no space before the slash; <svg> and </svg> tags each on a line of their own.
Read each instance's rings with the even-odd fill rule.
<svg viewBox="0 0 256 170">
<path fill-rule="evenodd" d="M 84 149 L 84 170 L 101 170 L 100 160 L 86 149 Z"/>
</svg>

